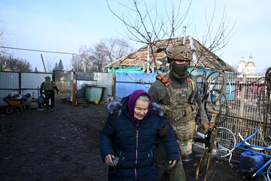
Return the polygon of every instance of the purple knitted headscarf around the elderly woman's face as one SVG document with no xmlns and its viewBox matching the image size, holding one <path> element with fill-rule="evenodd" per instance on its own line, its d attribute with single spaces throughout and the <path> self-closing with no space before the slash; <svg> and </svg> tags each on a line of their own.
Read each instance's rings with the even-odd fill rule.
<svg viewBox="0 0 271 181">
<path fill-rule="evenodd" d="M 138 99 L 139 96 L 141 96 L 142 94 L 148 96 L 149 100 L 150 100 L 150 106 L 149 106 L 149 109 L 148 109 L 148 112 L 146 113 L 146 115 L 143 117 L 143 119 L 145 119 L 145 117 L 147 117 L 147 115 L 149 114 L 150 110 L 151 110 L 151 96 L 144 90 L 135 90 L 130 98 L 129 98 L 129 101 L 128 101 L 128 112 L 130 114 L 130 116 L 132 117 L 132 119 L 135 121 L 135 124 L 139 124 L 139 121 L 138 119 L 135 118 L 134 116 L 134 109 L 135 109 L 135 102 L 136 100 Z M 142 120 L 143 120 L 142 119 Z"/>
</svg>

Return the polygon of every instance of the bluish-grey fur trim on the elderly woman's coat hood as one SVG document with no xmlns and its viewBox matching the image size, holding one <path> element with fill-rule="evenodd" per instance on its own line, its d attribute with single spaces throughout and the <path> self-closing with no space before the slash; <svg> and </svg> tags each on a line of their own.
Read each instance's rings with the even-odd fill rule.
<svg viewBox="0 0 271 181">
<path fill-rule="evenodd" d="M 118 116 L 120 116 L 123 113 L 123 111 L 124 111 L 123 108 L 124 108 L 124 106 L 122 105 L 121 102 L 119 102 L 119 101 L 111 101 L 107 105 L 107 112 L 110 115 L 117 114 Z M 151 113 L 157 114 L 160 117 L 164 116 L 163 109 L 157 103 L 152 103 L 150 114 Z"/>
</svg>

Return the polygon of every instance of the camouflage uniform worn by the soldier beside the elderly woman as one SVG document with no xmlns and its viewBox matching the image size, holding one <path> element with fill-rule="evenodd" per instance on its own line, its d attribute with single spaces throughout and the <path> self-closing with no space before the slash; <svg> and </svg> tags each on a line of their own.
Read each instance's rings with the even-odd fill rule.
<svg viewBox="0 0 271 181">
<path fill-rule="evenodd" d="M 165 111 L 165 118 L 171 123 L 174 129 L 181 155 L 188 155 L 192 153 L 193 136 L 197 133 L 198 128 L 195 123 L 195 117 L 199 114 L 202 119 L 202 124 L 205 124 L 208 123 L 207 115 L 204 111 L 200 95 L 197 94 L 194 110 L 188 115 L 174 121 L 176 117 L 191 106 L 188 100 L 192 91 L 196 88 L 197 80 L 193 75 L 188 75 L 187 78 L 184 78 L 181 81 L 171 77 L 170 74 L 167 74 L 166 77 L 171 80 L 169 85 L 162 83 L 160 80 L 156 80 L 151 85 L 148 93 L 151 95 L 152 101 L 158 103 Z M 196 93 L 197 92 L 198 90 L 196 90 Z M 160 150 L 162 157 L 166 157 L 166 152 L 163 151 L 162 144 L 160 144 Z M 169 175 L 169 180 L 185 181 L 182 162 L 179 161 L 174 167 L 174 170 L 167 168 L 167 171 L 165 172 L 165 174 Z M 170 172 L 172 172 L 171 175 Z M 163 177 L 163 181 L 168 180 L 166 179 L 166 176 Z"/>
</svg>

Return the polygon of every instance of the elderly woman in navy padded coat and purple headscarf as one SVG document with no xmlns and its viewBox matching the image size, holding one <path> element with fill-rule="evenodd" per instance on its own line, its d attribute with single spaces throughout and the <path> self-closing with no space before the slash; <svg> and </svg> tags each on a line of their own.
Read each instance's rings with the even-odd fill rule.
<svg viewBox="0 0 271 181">
<path fill-rule="evenodd" d="M 108 181 L 158 181 L 155 141 L 157 131 L 166 125 L 169 132 L 162 140 L 169 167 L 180 159 L 173 129 L 147 92 L 135 90 L 121 102 L 110 102 L 107 112 L 100 132 L 100 152 L 109 166 Z"/>
</svg>

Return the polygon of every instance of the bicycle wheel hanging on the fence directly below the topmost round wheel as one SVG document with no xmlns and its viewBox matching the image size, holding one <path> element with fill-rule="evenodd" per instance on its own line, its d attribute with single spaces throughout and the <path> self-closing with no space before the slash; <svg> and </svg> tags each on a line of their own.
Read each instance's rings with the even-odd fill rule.
<svg viewBox="0 0 271 181">
<path fill-rule="evenodd" d="M 220 91 L 217 89 L 214 89 L 213 91 L 217 92 L 217 94 L 220 94 Z M 218 111 L 215 124 L 221 124 L 228 117 L 230 104 L 229 99 L 227 96 L 225 96 L 225 94 L 222 95 L 222 99 L 219 99 L 219 101 L 215 103 L 212 102 L 212 97 L 209 99 L 210 99 L 209 102 L 204 101 L 204 109 L 205 111 L 207 111 L 207 109 L 213 109 Z"/>
</svg>

